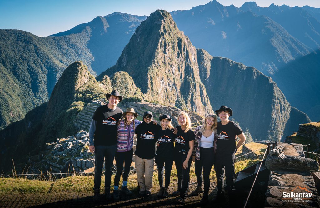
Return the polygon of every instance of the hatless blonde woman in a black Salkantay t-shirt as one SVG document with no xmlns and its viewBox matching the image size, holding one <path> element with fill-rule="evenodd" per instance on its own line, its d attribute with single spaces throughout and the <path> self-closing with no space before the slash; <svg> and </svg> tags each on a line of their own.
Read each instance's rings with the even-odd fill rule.
<svg viewBox="0 0 320 208">
<path fill-rule="evenodd" d="M 190 184 L 191 155 L 194 147 L 195 134 L 191 130 L 190 117 L 181 111 L 178 116 L 178 133 L 175 135 L 174 163 L 177 168 L 178 190 L 172 194 L 177 196 L 179 204 L 184 204 L 188 196 Z"/>
</svg>

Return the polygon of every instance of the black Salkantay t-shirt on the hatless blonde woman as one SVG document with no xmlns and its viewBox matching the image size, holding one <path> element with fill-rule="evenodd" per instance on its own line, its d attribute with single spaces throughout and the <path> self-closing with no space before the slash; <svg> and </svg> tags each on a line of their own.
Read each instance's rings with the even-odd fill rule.
<svg viewBox="0 0 320 208">
<path fill-rule="evenodd" d="M 187 133 L 181 129 L 181 126 L 177 126 L 178 133 L 175 134 L 175 145 L 174 148 L 178 152 L 188 152 L 190 149 L 189 141 L 195 140 L 195 133 L 189 129 Z M 192 149 L 191 149 L 192 151 Z"/>
</svg>

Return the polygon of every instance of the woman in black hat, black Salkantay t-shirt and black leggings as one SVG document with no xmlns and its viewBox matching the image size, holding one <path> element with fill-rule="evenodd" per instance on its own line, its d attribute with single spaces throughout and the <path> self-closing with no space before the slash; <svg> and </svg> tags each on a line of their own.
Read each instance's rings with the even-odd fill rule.
<svg viewBox="0 0 320 208">
<path fill-rule="evenodd" d="M 156 151 L 156 164 L 158 166 L 158 180 L 160 190 L 158 197 L 168 197 L 168 188 L 170 185 L 171 169 L 173 165 L 173 150 L 174 150 L 174 134 L 169 115 L 162 115 L 160 118 L 161 130 L 158 134 L 158 148 Z M 165 185 L 163 186 L 163 173 L 165 166 Z"/>
</svg>

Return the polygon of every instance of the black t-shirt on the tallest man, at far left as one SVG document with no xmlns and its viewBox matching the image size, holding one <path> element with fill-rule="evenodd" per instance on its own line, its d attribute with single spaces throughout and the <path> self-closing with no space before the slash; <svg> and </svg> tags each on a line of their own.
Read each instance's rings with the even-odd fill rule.
<svg viewBox="0 0 320 208">
<path fill-rule="evenodd" d="M 94 132 L 94 145 L 114 145 L 117 143 L 117 122 L 122 117 L 123 111 L 116 107 L 110 110 L 108 105 L 100 106 L 93 114 L 93 120 L 97 122 Z"/>
</svg>

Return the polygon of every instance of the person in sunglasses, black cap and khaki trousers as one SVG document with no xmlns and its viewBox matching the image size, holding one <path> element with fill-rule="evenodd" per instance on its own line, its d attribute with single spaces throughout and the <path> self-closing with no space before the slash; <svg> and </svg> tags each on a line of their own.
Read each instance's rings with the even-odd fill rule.
<svg viewBox="0 0 320 208">
<path fill-rule="evenodd" d="M 146 111 L 142 123 L 136 127 L 137 145 L 135 154 L 135 168 L 140 187 L 140 196 L 149 196 L 152 188 L 152 177 L 155 157 L 155 144 L 158 141 L 159 124 L 152 124 L 153 114 Z"/>
</svg>

